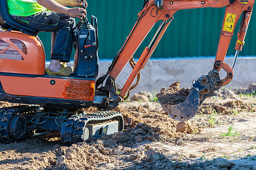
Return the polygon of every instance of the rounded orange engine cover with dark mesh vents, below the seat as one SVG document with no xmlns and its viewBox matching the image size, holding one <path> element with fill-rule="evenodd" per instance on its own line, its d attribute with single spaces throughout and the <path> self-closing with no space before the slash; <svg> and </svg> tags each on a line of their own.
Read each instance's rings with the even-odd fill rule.
<svg viewBox="0 0 256 170">
<path fill-rule="evenodd" d="M 0 32 L 0 72 L 44 75 L 46 57 L 42 42 L 20 32 Z"/>
</svg>

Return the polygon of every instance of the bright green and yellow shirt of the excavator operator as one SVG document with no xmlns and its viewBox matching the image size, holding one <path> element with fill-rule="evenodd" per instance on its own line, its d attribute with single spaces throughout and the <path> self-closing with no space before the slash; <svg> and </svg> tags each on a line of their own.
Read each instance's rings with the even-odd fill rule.
<svg viewBox="0 0 256 170">
<path fill-rule="evenodd" d="M 47 10 L 36 0 L 7 0 L 7 3 L 10 15 L 15 16 L 30 16 Z"/>
</svg>

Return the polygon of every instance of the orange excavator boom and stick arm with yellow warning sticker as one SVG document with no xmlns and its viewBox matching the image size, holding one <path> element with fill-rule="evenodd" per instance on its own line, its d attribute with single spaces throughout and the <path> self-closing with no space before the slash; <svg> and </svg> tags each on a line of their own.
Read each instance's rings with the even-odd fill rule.
<svg viewBox="0 0 256 170">
<path fill-rule="evenodd" d="M 135 23 L 129 36 L 123 44 L 121 50 L 119 50 L 118 55 L 113 59 L 112 65 L 110 65 L 109 67 L 108 73 L 106 75 L 108 75 L 108 79 L 110 80 L 107 82 L 114 82 L 114 80 L 121 73 L 122 69 L 133 58 L 133 54 L 138 49 L 139 45 L 141 45 L 141 42 L 147 36 L 148 32 L 150 32 L 151 28 L 159 20 L 162 20 L 162 23 L 160 24 L 158 31 L 155 33 L 155 36 L 153 37 L 150 44 L 146 46 L 146 48 L 144 49 L 143 53 L 141 54 L 141 57 L 139 58 L 137 64 L 134 66 L 133 71 L 131 71 L 129 78 L 127 79 L 125 85 L 123 86 L 118 95 L 122 99 L 130 90 L 131 84 L 134 82 L 139 71 L 144 68 L 148 59 L 150 59 L 152 53 L 154 52 L 156 46 L 158 45 L 158 42 L 164 35 L 164 32 L 166 31 L 171 20 L 173 19 L 173 15 L 175 14 L 176 11 L 189 8 L 226 7 L 213 70 L 209 71 L 208 75 L 201 76 L 198 80 L 193 82 L 193 94 L 195 94 L 198 97 L 189 95 L 190 97 L 193 97 L 193 100 L 187 99 L 190 103 L 191 101 L 194 102 L 191 103 L 191 105 L 196 105 L 196 107 L 194 108 L 198 108 L 199 105 L 203 103 L 206 97 L 211 96 L 214 93 L 214 91 L 218 90 L 221 86 L 225 86 L 232 80 L 234 63 L 236 62 L 238 52 L 242 49 L 242 46 L 244 44 L 244 39 L 250 21 L 251 12 L 253 10 L 253 5 L 254 0 L 144 1 L 143 9 L 138 14 L 137 22 Z M 226 52 L 228 51 L 229 48 L 230 40 L 233 37 L 234 28 L 236 27 L 236 24 L 240 19 L 241 15 L 242 21 L 240 24 L 240 31 L 238 32 L 238 40 L 236 43 L 237 53 L 234 58 L 233 66 L 230 67 L 227 63 L 224 62 L 224 59 L 226 56 Z M 224 69 L 227 73 L 224 79 L 220 79 L 220 69 Z M 106 86 L 108 86 L 108 84 Z M 117 93 L 115 93 L 115 95 L 117 95 Z M 184 102 L 186 103 L 184 107 L 189 106 L 188 101 Z M 171 106 L 171 108 L 173 107 L 175 106 Z M 170 110 L 180 111 L 181 108 L 183 108 L 182 104 L 179 105 L 179 108 L 167 109 L 166 111 L 170 113 Z M 179 114 L 183 115 L 181 116 L 182 118 L 177 118 L 177 120 L 185 120 L 183 114 L 184 112 L 185 109 L 183 109 L 183 111 Z M 179 117 L 179 115 L 175 115 L 175 117 Z M 191 118 L 193 115 L 195 115 L 195 113 L 188 115 L 187 117 Z"/>
</svg>

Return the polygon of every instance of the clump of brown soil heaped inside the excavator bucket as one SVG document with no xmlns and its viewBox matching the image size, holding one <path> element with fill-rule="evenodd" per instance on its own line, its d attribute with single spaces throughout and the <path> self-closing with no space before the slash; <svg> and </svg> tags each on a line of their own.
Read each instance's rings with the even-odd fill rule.
<svg viewBox="0 0 256 170">
<path fill-rule="evenodd" d="M 180 82 L 172 83 L 169 88 L 162 88 L 156 95 L 162 104 L 180 104 L 188 98 L 189 89 L 180 88 Z"/>
</svg>

